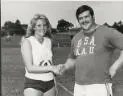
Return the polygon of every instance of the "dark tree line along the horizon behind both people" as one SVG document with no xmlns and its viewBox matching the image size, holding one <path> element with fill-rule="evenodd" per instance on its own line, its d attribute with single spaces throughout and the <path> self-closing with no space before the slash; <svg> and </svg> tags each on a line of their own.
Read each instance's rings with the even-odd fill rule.
<svg viewBox="0 0 123 96">
<path fill-rule="evenodd" d="M 115 28 L 119 32 L 123 33 L 123 22 L 114 22 L 113 25 L 109 25 L 108 23 L 104 23 L 103 25 Z M 20 20 L 16 20 L 15 22 L 12 21 L 6 21 L 4 25 L 1 27 L 1 36 L 7 36 L 7 35 L 25 35 L 26 29 L 28 25 L 27 24 L 21 24 Z M 58 32 L 69 32 L 69 30 L 72 30 L 74 28 L 74 25 L 66 21 L 64 19 L 58 20 L 57 27 L 52 28 L 52 33 L 58 33 Z M 76 28 L 76 30 L 79 28 Z"/>
</svg>

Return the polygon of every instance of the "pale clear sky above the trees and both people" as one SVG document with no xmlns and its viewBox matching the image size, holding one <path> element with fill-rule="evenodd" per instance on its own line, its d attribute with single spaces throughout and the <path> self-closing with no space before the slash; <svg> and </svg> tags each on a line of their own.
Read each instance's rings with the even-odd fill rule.
<svg viewBox="0 0 123 96">
<path fill-rule="evenodd" d="M 115 21 L 123 21 L 123 1 L 2 1 L 1 25 L 5 21 L 15 22 L 17 19 L 21 24 L 28 24 L 35 13 L 42 13 L 49 18 L 54 28 L 60 19 L 78 26 L 75 13 L 83 4 L 94 9 L 98 24 L 107 22 L 112 25 Z"/>
</svg>

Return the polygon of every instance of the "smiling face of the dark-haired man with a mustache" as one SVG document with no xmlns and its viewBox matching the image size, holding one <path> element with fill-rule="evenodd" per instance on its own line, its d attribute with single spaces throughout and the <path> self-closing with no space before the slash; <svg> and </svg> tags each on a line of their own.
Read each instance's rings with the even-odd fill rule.
<svg viewBox="0 0 123 96">
<path fill-rule="evenodd" d="M 78 21 L 83 30 L 90 30 L 94 24 L 94 17 L 89 11 L 84 11 L 78 16 Z"/>
</svg>

